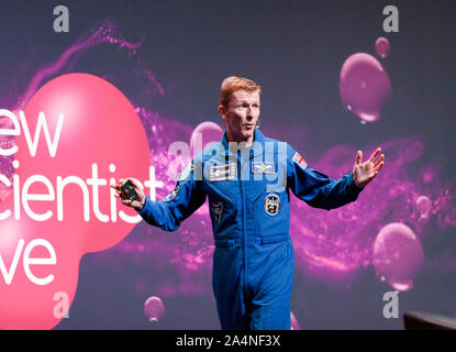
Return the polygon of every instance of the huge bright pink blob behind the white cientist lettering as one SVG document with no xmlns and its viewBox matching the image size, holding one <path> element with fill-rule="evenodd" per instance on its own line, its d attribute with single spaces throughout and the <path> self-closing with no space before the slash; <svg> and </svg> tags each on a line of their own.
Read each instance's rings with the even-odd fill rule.
<svg viewBox="0 0 456 352">
<path fill-rule="evenodd" d="M 141 220 L 119 207 L 109 185 L 130 176 L 148 179 L 149 150 L 130 101 L 97 76 L 48 81 L 24 117 L 13 191 L 0 204 L 0 213 L 10 211 L 0 222 L 0 255 L 9 271 L 18 261 L 8 286 L 0 275 L 0 329 L 51 329 L 63 318 L 53 314 L 54 295 L 64 292 L 73 301 L 81 256 L 120 242 Z M 26 255 L 53 262 L 53 251 L 55 263 L 31 264 L 25 272 Z M 37 285 L 31 274 L 53 279 Z"/>
</svg>

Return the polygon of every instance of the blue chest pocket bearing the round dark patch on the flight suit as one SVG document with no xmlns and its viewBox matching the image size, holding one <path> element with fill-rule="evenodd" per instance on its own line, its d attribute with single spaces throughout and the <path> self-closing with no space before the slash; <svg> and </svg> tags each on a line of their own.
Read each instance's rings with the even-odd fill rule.
<svg viewBox="0 0 456 352">
<path fill-rule="evenodd" d="M 290 229 L 290 201 L 287 190 L 275 193 L 266 187 L 253 199 L 255 229 L 258 237 L 285 234 Z"/>
</svg>

